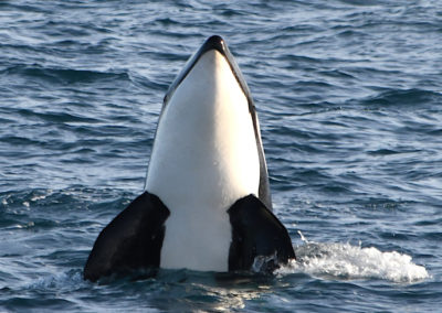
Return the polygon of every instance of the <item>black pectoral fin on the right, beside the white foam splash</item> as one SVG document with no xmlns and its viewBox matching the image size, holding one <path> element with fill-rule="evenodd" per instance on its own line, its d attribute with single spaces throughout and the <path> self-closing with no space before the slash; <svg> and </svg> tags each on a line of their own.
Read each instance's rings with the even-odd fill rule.
<svg viewBox="0 0 442 313">
<path fill-rule="evenodd" d="M 240 198 L 228 213 L 232 225 L 229 271 L 269 271 L 295 258 L 287 229 L 257 197 Z"/>
</svg>

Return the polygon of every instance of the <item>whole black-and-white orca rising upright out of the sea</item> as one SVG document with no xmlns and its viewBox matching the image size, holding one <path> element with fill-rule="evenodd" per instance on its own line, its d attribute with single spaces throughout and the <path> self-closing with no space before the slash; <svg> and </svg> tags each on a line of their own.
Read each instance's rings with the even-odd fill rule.
<svg viewBox="0 0 442 313">
<path fill-rule="evenodd" d="M 150 268 L 272 271 L 291 259 L 251 93 L 213 35 L 170 85 L 145 191 L 98 235 L 84 279 Z"/>
</svg>

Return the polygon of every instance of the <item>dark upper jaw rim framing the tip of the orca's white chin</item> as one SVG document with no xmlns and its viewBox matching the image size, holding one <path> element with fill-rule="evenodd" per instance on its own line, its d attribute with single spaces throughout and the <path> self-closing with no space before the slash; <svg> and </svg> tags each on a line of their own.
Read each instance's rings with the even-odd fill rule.
<svg viewBox="0 0 442 313">
<path fill-rule="evenodd" d="M 236 62 L 233 58 L 232 53 L 230 52 L 228 45 L 225 44 L 225 41 L 219 35 L 212 35 L 209 39 L 207 39 L 206 42 L 201 45 L 201 47 L 197 51 L 197 53 L 194 53 L 193 56 L 190 58 L 190 61 L 187 63 L 186 67 L 178 74 L 177 78 L 173 80 L 173 83 L 170 85 L 169 89 L 166 93 L 166 96 L 164 98 L 164 107 L 167 106 L 175 90 L 182 83 L 182 80 L 186 79 L 187 75 L 192 71 L 193 66 L 198 63 L 201 56 L 204 53 L 212 50 L 218 51 L 219 53 L 221 53 L 222 56 L 224 56 L 230 68 L 232 69 L 234 77 L 236 78 L 238 84 L 241 86 L 241 89 L 248 99 L 250 111 L 254 110 L 254 105 L 249 86 L 241 74 L 240 67 L 238 66 Z"/>
</svg>

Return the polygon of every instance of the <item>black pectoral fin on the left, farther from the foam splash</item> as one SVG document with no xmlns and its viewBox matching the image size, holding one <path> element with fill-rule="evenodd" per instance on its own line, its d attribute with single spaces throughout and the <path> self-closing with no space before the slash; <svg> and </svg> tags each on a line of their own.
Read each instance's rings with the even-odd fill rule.
<svg viewBox="0 0 442 313">
<path fill-rule="evenodd" d="M 98 235 L 83 277 L 96 281 L 114 272 L 159 267 L 169 209 L 145 192 L 118 214 Z"/>
</svg>

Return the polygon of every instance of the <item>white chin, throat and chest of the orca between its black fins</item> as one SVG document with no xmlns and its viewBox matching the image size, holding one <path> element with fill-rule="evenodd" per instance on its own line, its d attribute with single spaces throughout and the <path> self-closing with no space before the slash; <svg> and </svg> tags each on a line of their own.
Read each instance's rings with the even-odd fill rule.
<svg viewBox="0 0 442 313">
<path fill-rule="evenodd" d="M 227 209 L 257 195 L 260 161 L 248 99 L 218 51 L 203 54 L 158 125 L 146 188 L 170 209 L 162 268 L 227 271 Z"/>
</svg>

